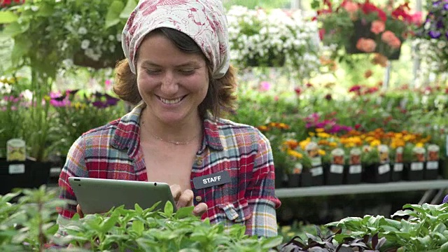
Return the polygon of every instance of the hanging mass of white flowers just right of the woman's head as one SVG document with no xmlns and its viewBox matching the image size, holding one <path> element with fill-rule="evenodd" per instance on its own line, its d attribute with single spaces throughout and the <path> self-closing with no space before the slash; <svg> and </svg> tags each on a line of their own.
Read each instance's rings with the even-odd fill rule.
<svg viewBox="0 0 448 252">
<path fill-rule="evenodd" d="M 232 6 L 227 12 L 230 59 L 248 66 L 288 66 L 306 78 L 320 66 L 317 22 L 300 11 Z"/>
</svg>

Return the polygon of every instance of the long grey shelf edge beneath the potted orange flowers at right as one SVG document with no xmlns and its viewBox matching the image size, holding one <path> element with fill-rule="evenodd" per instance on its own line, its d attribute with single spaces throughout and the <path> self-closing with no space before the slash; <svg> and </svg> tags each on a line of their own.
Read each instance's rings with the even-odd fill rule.
<svg viewBox="0 0 448 252">
<path fill-rule="evenodd" d="M 280 188 L 275 190 L 275 195 L 279 198 L 288 198 L 360 193 L 390 193 L 407 190 L 415 191 L 445 188 L 448 188 L 448 179 L 433 181 L 400 181 L 391 183 L 362 183 L 340 186 L 311 186 L 307 188 Z"/>
</svg>

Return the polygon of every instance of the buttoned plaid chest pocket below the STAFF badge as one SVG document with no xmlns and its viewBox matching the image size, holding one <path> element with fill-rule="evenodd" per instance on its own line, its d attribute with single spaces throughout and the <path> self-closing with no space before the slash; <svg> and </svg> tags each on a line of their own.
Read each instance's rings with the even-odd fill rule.
<svg viewBox="0 0 448 252">
<path fill-rule="evenodd" d="M 252 217 L 252 211 L 246 199 L 216 205 L 216 222 L 244 223 Z"/>
</svg>

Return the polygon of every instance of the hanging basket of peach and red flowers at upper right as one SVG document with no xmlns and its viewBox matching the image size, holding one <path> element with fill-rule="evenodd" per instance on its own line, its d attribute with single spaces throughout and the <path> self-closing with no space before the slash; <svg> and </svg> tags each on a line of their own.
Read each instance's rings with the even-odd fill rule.
<svg viewBox="0 0 448 252">
<path fill-rule="evenodd" d="M 342 1 L 332 6 L 314 1 L 321 23 L 321 39 L 325 45 L 344 48 L 349 54 L 377 52 L 388 59 L 398 59 L 401 44 L 415 24 L 419 14 L 410 11 L 409 3 L 399 6 L 377 6 L 369 0 Z"/>
</svg>

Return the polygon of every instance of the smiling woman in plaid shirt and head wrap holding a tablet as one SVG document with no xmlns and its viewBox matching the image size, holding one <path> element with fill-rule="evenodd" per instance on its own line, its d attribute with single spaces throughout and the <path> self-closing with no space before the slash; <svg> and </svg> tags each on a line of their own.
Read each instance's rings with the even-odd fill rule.
<svg viewBox="0 0 448 252">
<path fill-rule="evenodd" d="M 116 67 L 118 96 L 136 105 L 71 146 L 59 176 L 62 199 L 76 200 L 70 176 L 169 183 L 177 207 L 211 223 L 276 235 L 274 165 L 254 127 L 219 118 L 235 97 L 228 31 L 220 0 L 139 1 L 123 29 L 127 59 Z M 204 187 L 195 178 L 227 172 Z M 76 204 L 59 213 L 71 218 Z"/>
</svg>

